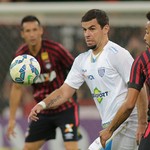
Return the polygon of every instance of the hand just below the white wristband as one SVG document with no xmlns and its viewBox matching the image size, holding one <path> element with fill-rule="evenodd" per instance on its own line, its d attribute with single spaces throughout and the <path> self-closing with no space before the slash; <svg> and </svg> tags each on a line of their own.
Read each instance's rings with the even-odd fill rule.
<svg viewBox="0 0 150 150">
<path fill-rule="evenodd" d="M 28 122 L 29 121 L 37 121 L 39 119 L 37 117 L 37 114 L 40 113 L 41 110 L 43 110 L 43 107 L 41 105 L 39 105 L 39 104 L 35 105 L 29 114 Z"/>
</svg>

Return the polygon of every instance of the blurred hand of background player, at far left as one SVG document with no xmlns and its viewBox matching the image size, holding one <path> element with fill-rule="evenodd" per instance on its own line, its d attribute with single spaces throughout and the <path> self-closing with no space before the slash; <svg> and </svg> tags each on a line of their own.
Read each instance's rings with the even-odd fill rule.
<svg viewBox="0 0 150 150">
<path fill-rule="evenodd" d="M 7 128 L 7 131 L 6 131 L 6 136 L 7 136 L 8 139 L 10 139 L 11 136 L 16 137 L 16 133 L 14 131 L 15 124 L 16 124 L 15 120 L 10 120 L 9 123 L 8 123 L 8 128 Z"/>
</svg>

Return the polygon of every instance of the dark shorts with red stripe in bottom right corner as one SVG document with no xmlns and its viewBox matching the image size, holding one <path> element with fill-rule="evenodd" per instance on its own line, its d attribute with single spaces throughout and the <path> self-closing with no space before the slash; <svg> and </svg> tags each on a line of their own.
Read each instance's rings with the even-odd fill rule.
<svg viewBox="0 0 150 150">
<path fill-rule="evenodd" d="M 150 123 L 148 124 L 146 132 L 141 139 L 138 150 L 150 150 Z"/>
</svg>

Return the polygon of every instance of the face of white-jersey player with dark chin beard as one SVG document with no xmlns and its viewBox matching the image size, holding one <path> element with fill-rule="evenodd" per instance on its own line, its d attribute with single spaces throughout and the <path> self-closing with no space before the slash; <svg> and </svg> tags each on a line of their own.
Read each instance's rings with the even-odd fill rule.
<svg viewBox="0 0 150 150">
<path fill-rule="evenodd" d="M 96 19 L 87 22 L 82 22 L 84 37 L 88 48 L 97 50 L 107 37 L 109 26 L 105 25 L 103 29 L 98 24 Z"/>
</svg>

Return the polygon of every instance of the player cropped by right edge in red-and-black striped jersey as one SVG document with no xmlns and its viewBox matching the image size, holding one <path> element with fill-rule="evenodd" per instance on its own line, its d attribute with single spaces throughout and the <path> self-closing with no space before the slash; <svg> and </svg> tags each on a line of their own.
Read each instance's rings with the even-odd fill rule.
<svg viewBox="0 0 150 150">
<path fill-rule="evenodd" d="M 147 13 L 147 19 L 146 33 L 144 36 L 147 50 L 133 62 L 126 102 L 121 106 L 108 128 L 100 133 L 103 146 L 105 146 L 105 142 L 112 136 L 113 132 L 121 125 L 121 123 L 129 117 L 135 107 L 139 92 L 142 87 L 146 85 L 148 95 L 148 122 L 143 122 L 143 124 L 141 124 L 141 127 L 147 128 L 140 141 L 138 150 L 150 149 L 150 12 Z M 145 111 L 145 113 L 147 112 L 147 110 L 143 111 Z"/>
</svg>

